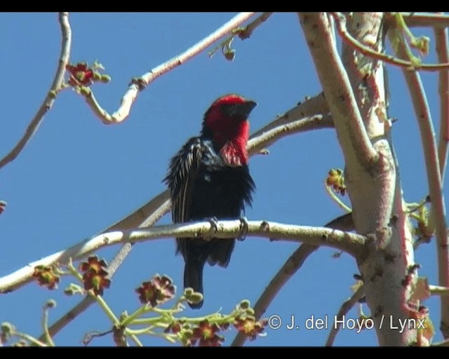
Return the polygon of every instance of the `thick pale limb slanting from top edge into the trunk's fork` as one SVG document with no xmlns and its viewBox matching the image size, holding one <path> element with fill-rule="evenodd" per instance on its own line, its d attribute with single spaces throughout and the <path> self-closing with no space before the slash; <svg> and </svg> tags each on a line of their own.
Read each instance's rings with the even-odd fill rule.
<svg viewBox="0 0 449 359">
<path fill-rule="evenodd" d="M 378 154 L 370 142 L 326 13 L 299 13 L 316 72 L 333 115 L 345 162 L 370 169 Z M 354 151 L 356 149 L 356 151 Z M 355 156 L 355 158 L 354 158 Z"/>
</svg>

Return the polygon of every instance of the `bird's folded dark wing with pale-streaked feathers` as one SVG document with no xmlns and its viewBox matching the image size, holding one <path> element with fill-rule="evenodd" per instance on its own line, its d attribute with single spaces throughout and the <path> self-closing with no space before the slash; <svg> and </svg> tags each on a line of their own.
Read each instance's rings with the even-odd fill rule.
<svg viewBox="0 0 449 359">
<path fill-rule="evenodd" d="M 170 161 L 165 181 L 170 189 L 174 223 L 190 220 L 194 184 L 202 156 L 203 144 L 200 138 L 192 137 Z"/>
</svg>

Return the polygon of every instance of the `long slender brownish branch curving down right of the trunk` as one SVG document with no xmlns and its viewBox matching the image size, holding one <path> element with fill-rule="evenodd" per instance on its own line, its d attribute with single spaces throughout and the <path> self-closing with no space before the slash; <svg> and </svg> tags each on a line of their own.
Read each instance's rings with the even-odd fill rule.
<svg viewBox="0 0 449 359">
<path fill-rule="evenodd" d="M 389 36 L 392 36 L 389 34 Z M 400 57 L 406 56 L 407 44 L 401 43 L 397 53 Z M 429 104 L 422 87 L 420 74 L 416 71 L 403 70 L 408 90 L 412 97 L 413 107 L 420 126 L 422 147 L 426 164 L 427 182 L 431 198 L 431 222 L 435 226 L 437 252 L 438 252 L 438 281 L 439 285 L 449 287 L 449 242 L 447 223 L 445 219 L 445 205 L 441 185 L 440 164 L 438 162 L 438 151 L 434 126 L 431 120 Z M 449 337 L 449 298 L 441 298 L 441 331 L 443 337 Z"/>
</svg>

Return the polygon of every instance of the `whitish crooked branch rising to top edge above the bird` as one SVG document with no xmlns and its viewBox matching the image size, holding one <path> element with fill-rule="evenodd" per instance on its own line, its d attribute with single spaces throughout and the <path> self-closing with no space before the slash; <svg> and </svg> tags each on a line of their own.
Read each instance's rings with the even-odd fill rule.
<svg viewBox="0 0 449 359">
<path fill-rule="evenodd" d="M 166 74 L 166 72 L 175 69 L 175 67 L 182 65 L 183 63 L 187 62 L 187 60 L 190 60 L 195 55 L 198 55 L 199 53 L 201 53 L 201 51 L 220 39 L 222 36 L 229 34 L 234 29 L 236 29 L 236 27 L 239 27 L 241 23 L 251 18 L 254 14 L 255 13 L 239 13 L 239 15 L 234 16 L 234 18 L 216 29 L 215 32 L 206 36 L 194 46 L 185 50 L 185 52 L 180 53 L 179 55 L 171 58 L 167 62 L 164 62 L 157 67 L 154 67 L 154 69 L 150 70 L 146 74 L 143 74 L 140 78 L 133 79 L 128 90 L 121 99 L 119 109 L 117 109 L 117 111 L 115 111 L 113 114 L 109 114 L 105 109 L 102 109 L 100 104 L 98 104 L 98 101 L 95 99 L 92 91 L 89 91 L 89 93 L 86 95 L 86 102 L 88 103 L 89 107 L 91 107 L 94 114 L 96 114 L 98 118 L 100 118 L 102 123 L 109 125 L 112 123 L 120 123 L 124 121 L 128 117 L 131 106 L 133 105 L 135 99 L 138 97 L 138 94 L 141 90 L 145 89 L 145 87 L 148 86 L 149 83 L 152 83 L 152 81 L 157 79 L 159 76 Z"/>
</svg>

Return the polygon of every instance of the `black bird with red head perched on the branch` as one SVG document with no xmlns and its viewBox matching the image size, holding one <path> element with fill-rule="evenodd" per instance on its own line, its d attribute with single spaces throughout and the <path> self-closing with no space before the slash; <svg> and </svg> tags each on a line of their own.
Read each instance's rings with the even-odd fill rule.
<svg viewBox="0 0 449 359">
<path fill-rule="evenodd" d="M 252 206 L 255 182 L 248 168 L 250 124 L 257 102 L 230 93 L 218 97 L 203 116 L 201 133 L 191 137 L 170 159 L 163 179 L 170 191 L 173 223 L 236 219 Z M 176 238 L 184 258 L 184 287 L 203 294 L 206 262 L 226 268 L 236 238 Z M 204 294 L 203 294 L 204 295 Z M 187 302 L 200 309 L 203 299 Z"/>
</svg>

